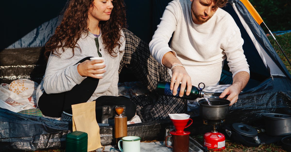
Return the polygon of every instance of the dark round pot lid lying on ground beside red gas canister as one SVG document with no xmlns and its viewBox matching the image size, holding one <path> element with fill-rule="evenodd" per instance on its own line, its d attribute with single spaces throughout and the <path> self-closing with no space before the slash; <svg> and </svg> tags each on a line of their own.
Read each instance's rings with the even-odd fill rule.
<svg viewBox="0 0 291 152">
<path fill-rule="evenodd" d="M 232 128 L 235 132 L 245 136 L 255 137 L 258 135 L 258 131 L 255 128 L 243 123 L 233 123 Z"/>
</svg>

